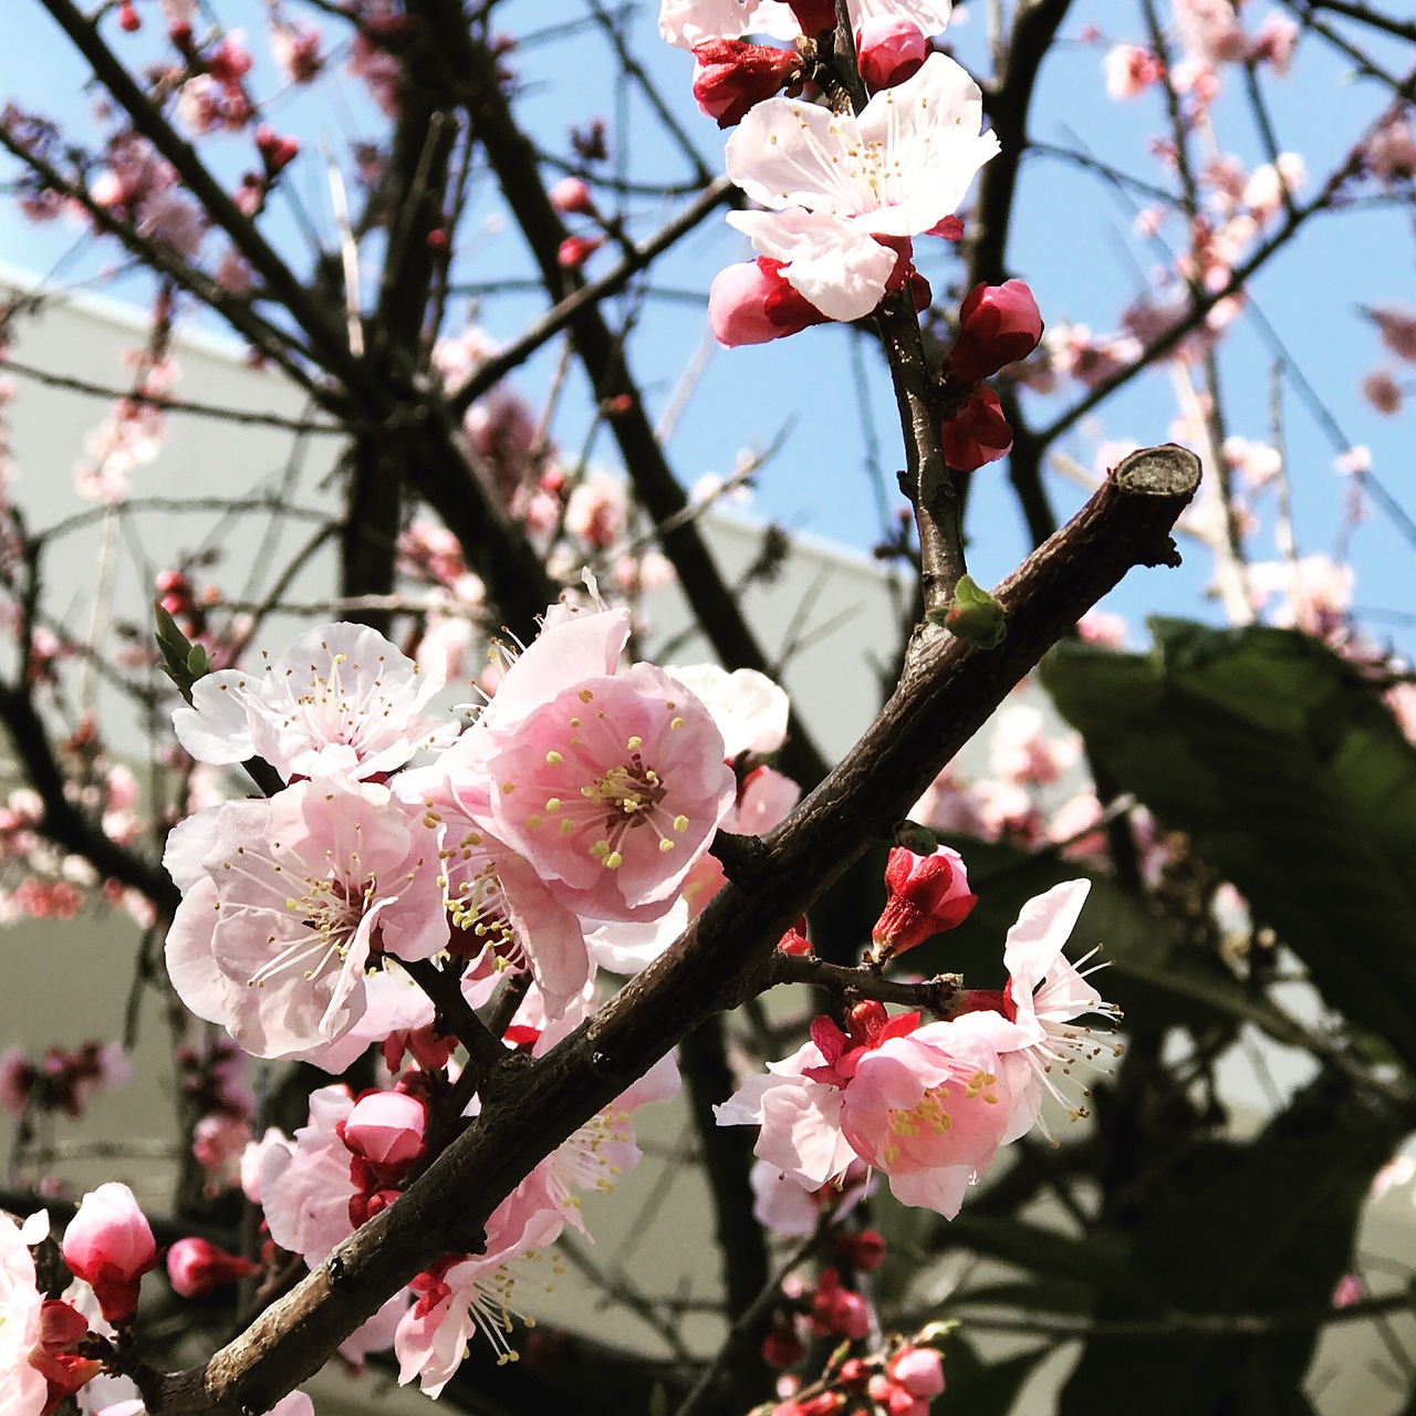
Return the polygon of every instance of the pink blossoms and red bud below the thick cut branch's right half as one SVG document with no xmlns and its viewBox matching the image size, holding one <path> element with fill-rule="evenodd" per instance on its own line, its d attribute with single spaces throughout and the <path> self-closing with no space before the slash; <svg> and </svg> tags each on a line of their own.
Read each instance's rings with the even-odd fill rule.
<svg viewBox="0 0 1416 1416">
<path fill-rule="evenodd" d="M 925 864 L 892 862 L 882 923 L 918 919 L 918 906 L 902 912 L 895 902 L 910 877 L 929 881 Z M 949 891 L 933 893 L 942 902 Z M 1045 1093 L 1085 1114 L 1059 1078 L 1104 1048 L 1073 1020 L 1113 1011 L 1062 952 L 1086 893 L 1086 881 L 1070 881 L 1024 908 L 1004 946 L 1001 993 L 960 993 L 936 1022 L 874 1001 L 851 1007 L 844 1028 L 818 1017 L 810 1042 L 716 1109 L 719 1124 L 759 1126 L 758 1155 L 803 1189 L 840 1184 L 861 1163 L 889 1180 L 896 1199 L 952 1218 L 998 1147 L 1038 1120 Z M 933 908 L 926 932 L 961 919 Z"/>
</svg>

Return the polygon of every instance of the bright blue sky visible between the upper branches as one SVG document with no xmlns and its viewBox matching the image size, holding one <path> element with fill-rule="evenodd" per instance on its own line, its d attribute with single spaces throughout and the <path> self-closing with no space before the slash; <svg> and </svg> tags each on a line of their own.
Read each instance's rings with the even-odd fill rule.
<svg viewBox="0 0 1416 1416">
<path fill-rule="evenodd" d="M 1245 10 L 1249 28 L 1263 17 L 1262 0 Z M 156 14 L 156 0 L 139 0 L 144 14 Z M 292 13 L 299 11 L 292 4 Z M 969 23 L 950 28 L 960 57 L 976 57 L 983 42 L 983 6 Z M 11 0 L 7 6 L 7 42 L 0 47 L 0 93 L 24 106 L 42 108 L 64 95 L 59 116 L 85 126 L 89 101 L 81 93 L 86 72 L 72 58 L 54 23 L 34 0 Z M 256 35 L 263 27 L 263 6 L 255 0 L 221 4 L 228 23 L 244 23 Z M 612 135 L 623 135 L 616 159 L 636 176 L 681 180 L 688 166 L 666 136 L 663 122 L 643 101 L 617 89 L 615 65 L 602 35 L 593 27 L 576 30 L 568 14 L 579 14 L 564 0 L 508 0 L 498 10 L 498 25 L 513 34 L 551 30 L 551 37 L 528 44 L 511 57 L 520 84 L 518 112 L 548 149 L 564 152 L 571 123 L 585 123 L 599 115 Z M 1161 181 L 1163 174 L 1148 153 L 1148 140 L 1164 130 L 1164 115 L 1155 95 L 1119 106 L 1100 89 L 1100 64 L 1106 44 L 1086 35 L 1090 25 L 1104 40 L 1138 40 L 1141 21 L 1136 6 L 1123 0 L 1079 3 L 1063 27 L 1062 42 L 1044 71 L 1031 133 L 1035 139 L 1062 146 L 1080 146 L 1092 156 L 1114 163 L 1124 171 Z M 327 25 L 329 27 L 329 25 Z M 156 25 L 139 37 L 133 52 L 144 52 Z M 653 13 L 641 10 L 629 31 L 630 44 L 649 71 L 661 82 L 675 113 L 707 166 L 722 164 L 722 135 L 701 118 L 688 98 L 691 62 L 687 55 L 664 47 L 654 31 Z M 1383 58 L 1398 67 L 1391 48 Z M 272 92 L 269 75 L 258 75 L 255 88 Z M 326 86 L 327 88 L 327 86 Z M 1352 78 L 1349 67 L 1324 54 L 1311 38 L 1300 45 L 1297 64 L 1287 81 L 1264 81 L 1280 147 L 1300 150 L 1308 169 L 1321 174 L 1340 161 L 1361 125 L 1381 106 L 1374 86 Z M 299 93 L 272 109 L 272 122 L 302 137 L 306 157 L 297 164 L 293 191 L 317 225 L 329 229 L 329 198 L 323 163 L 310 160 L 323 137 L 336 152 L 347 150 L 357 136 L 374 136 L 379 119 L 374 109 L 344 85 L 337 96 Z M 1236 153 L 1253 164 L 1263 152 L 1240 103 L 1239 76 L 1229 74 L 1226 92 L 1216 108 L 1216 130 L 1223 152 Z M 249 164 L 244 140 L 210 144 L 211 161 L 234 181 Z M 1311 184 L 1310 184 L 1311 190 Z M 637 235 L 651 232 L 667 219 L 678 202 L 637 200 L 629 211 Z M 474 219 L 481 235 L 462 262 L 466 279 L 479 285 L 525 278 L 527 265 L 517 232 L 500 214 L 493 194 L 480 197 Z M 1116 327 L 1124 304 L 1144 289 L 1151 268 L 1163 261 L 1155 246 L 1143 245 L 1131 234 L 1133 210 L 1095 177 L 1048 157 L 1034 157 L 1025 166 L 1020 212 L 1010 251 L 1015 275 L 1027 279 L 1049 319 L 1066 317 L 1097 331 Z M 307 263 L 307 246 L 289 210 L 276 207 L 268 231 L 286 242 L 297 265 Z M 8 208 L 0 208 L 0 261 L 35 272 L 50 269 L 76 241 L 75 228 L 52 225 L 31 228 Z M 1174 227 L 1163 238 L 1175 241 Z M 920 266 L 943 295 L 957 278 L 952 252 L 926 252 L 920 242 Z M 707 292 L 712 275 L 726 262 L 745 258 L 741 238 L 718 218 L 709 219 L 670 259 L 656 268 L 656 283 L 684 295 Z M 69 278 L 103 269 L 102 256 L 79 249 L 64 266 Z M 598 258 L 590 273 L 606 269 L 609 255 Z M 1255 286 L 1255 306 L 1272 324 L 1283 355 L 1298 371 L 1328 419 L 1318 418 L 1291 387 L 1284 394 L 1283 419 L 1290 457 L 1294 518 L 1303 554 L 1332 551 L 1344 514 L 1348 484 L 1332 470 L 1335 440 L 1365 443 L 1374 452 L 1374 470 L 1399 500 L 1416 510 L 1410 487 L 1410 413 L 1383 419 L 1357 395 L 1361 375 L 1381 358 L 1375 330 L 1357 309 L 1374 303 L 1416 303 L 1412 287 L 1412 241 L 1398 208 L 1374 208 L 1323 217 L 1300 238 L 1297 248 L 1264 272 Z M 122 285 L 109 293 L 123 293 Z M 534 316 L 534 297 L 489 292 L 477 300 L 476 319 L 498 340 L 520 333 Z M 619 304 L 622 312 L 627 303 Z M 756 510 L 786 527 L 811 535 L 844 541 L 868 549 L 881 537 L 882 494 L 879 481 L 867 470 L 872 435 L 884 464 L 884 508 L 898 507 L 889 490 L 891 474 L 901 460 L 899 435 L 893 426 L 893 401 L 878 355 L 865 341 L 845 329 L 809 330 L 772 346 L 722 351 L 705 346 L 701 304 L 691 299 L 649 300 L 637 313 L 640 323 L 634 368 L 651 406 L 663 408 L 685 368 L 704 360 L 695 375 L 695 392 L 675 425 L 670 456 L 685 484 L 705 473 L 728 473 L 743 449 L 766 447 L 782 440 L 779 455 L 758 480 Z M 1225 418 L 1231 432 L 1250 438 L 1270 436 L 1272 368 L 1274 348 L 1252 317 L 1245 317 L 1221 351 Z M 549 387 L 555 350 L 548 348 L 518 375 L 518 384 L 534 398 Z M 1398 371 L 1400 372 L 1400 371 Z M 1039 422 L 1049 421 L 1076 392 L 1032 402 Z M 588 391 L 573 379 L 566 387 L 565 438 L 572 440 L 575 415 L 588 404 Z M 1164 374 L 1148 375 L 1110 401 L 1083 422 L 1066 440 L 1080 463 L 1090 466 L 1103 439 L 1163 442 L 1170 436 L 1175 399 Z M 1328 421 L 1340 435 L 1334 439 Z M 602 440 L 592 459 L 612 460 L 612 447 Z M 1025 541 L 1001 466 L 984 469 L 976 477 L 977 494 L 970 511 L 973 569 L 978 579 L 993 582 L 1025 549 Z M 1058 510 L 1066 515 L 1082 491 L 1059 477 L 1051 483 Z M 1255 538 L 1256 559 L 1274 555 L 1272 528 Z M 1376 610 L 1412 610 L 1410 558 L 1413 548 L 1381 513 L 1358 528 L 1352 558 L 1358 566 L 1357 599 Z M 1133 619 L 1144 613 L 1214 615 L 1201 600 L 1208 573 L 1205 556 L 1188 556 L 1182 572 L 1148 572 L 1133 578 L 1113 598 L 1117 609 Z M 1416 646 L 1416 630 L 1374 616 L 1372 630 L 1391 634 L 1408 649 Z"/>
</svg>

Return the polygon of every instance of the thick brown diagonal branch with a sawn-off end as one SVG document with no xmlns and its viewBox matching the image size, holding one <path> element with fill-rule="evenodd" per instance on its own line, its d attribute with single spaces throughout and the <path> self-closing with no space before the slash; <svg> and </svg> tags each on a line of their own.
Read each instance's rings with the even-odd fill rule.
<svg viewBox="0 0 1416 1416">
<path fill-rule="evenodd" d="M 268 1410 L 416 1272 L 446 1252 L 476 1247 L 491 1211 L 542 1157 L 690 1031 L 769 983 L 786 926 L 888 835 L 1018 678 L 1127 569 L 1177 562 L 1170 530 L 1198 480 L 1198 460 L 1182 449 L 1134 453 L 997 588 L 1008 622 L 1003 644 L 977 650 L 923 632 L 869 732 L 765 838 L 741 884 L 716 895 L 683 939 L 595 1018 L 513 1078 L 395 1205 L 235 1342 L 204 1368 L 146 1374 L 149 1410 Z"/>
</svg>

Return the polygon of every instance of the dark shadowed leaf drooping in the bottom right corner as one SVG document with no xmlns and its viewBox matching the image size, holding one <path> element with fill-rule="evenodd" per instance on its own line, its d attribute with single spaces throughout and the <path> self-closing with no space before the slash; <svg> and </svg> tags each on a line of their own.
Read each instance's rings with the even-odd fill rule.
<svg viewBox="0 0 1416 1416">
<path fill-rule="evenodd" d="M 1323 1311 L 1347 1270 L 1371 1177 L 1406 1120 L 1320 1076 L 1253 1141 L 1197 1150 L 1184 1175 L 1137 1205 L 1127 1277 L 1175 1313 L 1283 1315 Z M 1103 1293 L 1097 1323 L 1129 1323 L 1133 1303 Z M 1082 1416 L 1117 1391 L 1147 1416 L 1290 1416 L 1315 1327 L 1263 1332 L 1114 1332 L 1093 1337 L 1059 1416 Z"/>
</svg>

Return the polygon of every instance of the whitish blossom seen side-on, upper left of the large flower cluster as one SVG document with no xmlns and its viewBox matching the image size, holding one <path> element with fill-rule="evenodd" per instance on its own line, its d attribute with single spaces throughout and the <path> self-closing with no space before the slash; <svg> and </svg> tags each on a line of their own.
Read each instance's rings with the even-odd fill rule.
<svg viewBox="0 0 1416 1416">
<path fill-rule="evenodd" d="M 320 624 L 273 664 L 197 680 L 173 714 L 177 741 L 198 762 L 265 758 L 293 776 L 372 777 L 457 735 L 450 718 L 421 714 L 443 687 L 377 630 Z"/>
</svg>

